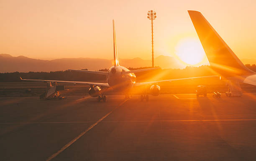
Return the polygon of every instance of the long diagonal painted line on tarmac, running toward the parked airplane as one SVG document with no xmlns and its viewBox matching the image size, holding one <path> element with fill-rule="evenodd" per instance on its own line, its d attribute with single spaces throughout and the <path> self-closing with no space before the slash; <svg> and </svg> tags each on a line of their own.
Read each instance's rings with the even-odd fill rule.
<svg viewBox="0 0 256 161">
<path fill-rule="evenodd" d="M 56 153 L 52 154 L 49 158 L 46 159 L 46 161 L 50 161 L 51 159 L 55 158 L 56 156 L 58 156 L 62 151 L 64 151 L 66 148 L 68 148 L 69 146 L 71 146 L 75 141 L 77 141 L 79 138 L 81 138 L 85 133 L 87 133 L 88 131 L 90 131 L 94 126 L 96 126 L 98 123 L 100 123 L 100 121 L 102 121 L 104 118 L 106 118 L 107 116 L 110 115 L 110 113 L 112 113 L 115 109 L 117 109 L 118 107 L 122 106 L 128 99 L 126 99 L 125 101 L 123 101 L 122 103 L 120 103 L 117 107 L 115 107 L 112 111 L 110 111 L 108 114 L 106 114 L 105 116 L 103 116 L 102 118 L 100 118 L 100 120 L 98 120 L 96 123 L 92 124 L 89 128 L 87 128 L 85 131 L 83 131 L 82 133 L 80 133 L 79 136 L 75 137 L 72 141 L 69 141 L 69 143 L 67 143 L 66 145 L 64 145 L 59 151 L 57 151 Z"/>
</svg>

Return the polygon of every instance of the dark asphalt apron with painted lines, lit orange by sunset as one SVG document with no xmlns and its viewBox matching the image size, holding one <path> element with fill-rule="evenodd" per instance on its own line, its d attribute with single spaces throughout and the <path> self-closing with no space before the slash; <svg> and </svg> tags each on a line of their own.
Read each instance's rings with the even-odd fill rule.
<svg viewBox="0 0 256 161">
<path fill-rule="evenodd" d="M 0 160 L 255 160 L 256 93 L 243 94 L 0 98 Z"/>
</svg>

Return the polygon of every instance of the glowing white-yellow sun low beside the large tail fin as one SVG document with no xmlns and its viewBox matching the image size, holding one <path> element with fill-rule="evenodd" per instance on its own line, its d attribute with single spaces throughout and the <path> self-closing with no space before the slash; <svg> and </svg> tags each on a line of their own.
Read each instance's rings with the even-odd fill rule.
<svg viewBox="0 0 256 161">
<path fill-rule="evenodd" d="M 205 58 L 205 51 L 197 38 L 184 38 L 177 43 L 175 54 L 188 65 L 198 65 Z"/>
</svg>

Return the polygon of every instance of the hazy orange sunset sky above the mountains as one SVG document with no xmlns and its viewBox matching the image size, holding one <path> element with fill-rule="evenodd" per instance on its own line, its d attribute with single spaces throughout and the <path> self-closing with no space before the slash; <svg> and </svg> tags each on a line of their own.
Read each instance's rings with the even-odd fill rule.
<svg viewBox="0 0 256 161">
<path fill-rule="evenodd" d="M 1 0 L 0 53 L 31 58 L 113 58 L 115 19 L 120 58 L 176 56 L 177 44 L 197 34 L 187 10 L 200 11 L 239 58 L 256 58 L 255 0 Z"/>
</svg>

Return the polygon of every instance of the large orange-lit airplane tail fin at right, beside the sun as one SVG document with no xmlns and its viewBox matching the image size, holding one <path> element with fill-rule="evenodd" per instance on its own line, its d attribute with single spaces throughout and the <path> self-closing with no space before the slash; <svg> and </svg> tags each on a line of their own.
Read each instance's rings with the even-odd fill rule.
<svg viewBox="0 0 256 161">
<path fill-rule="evenodd" d="M 226 78 L 254 73 L 243 65 L 200 12 L 189 10 L 188 13 L 213 70 Z"/>
</svg>

